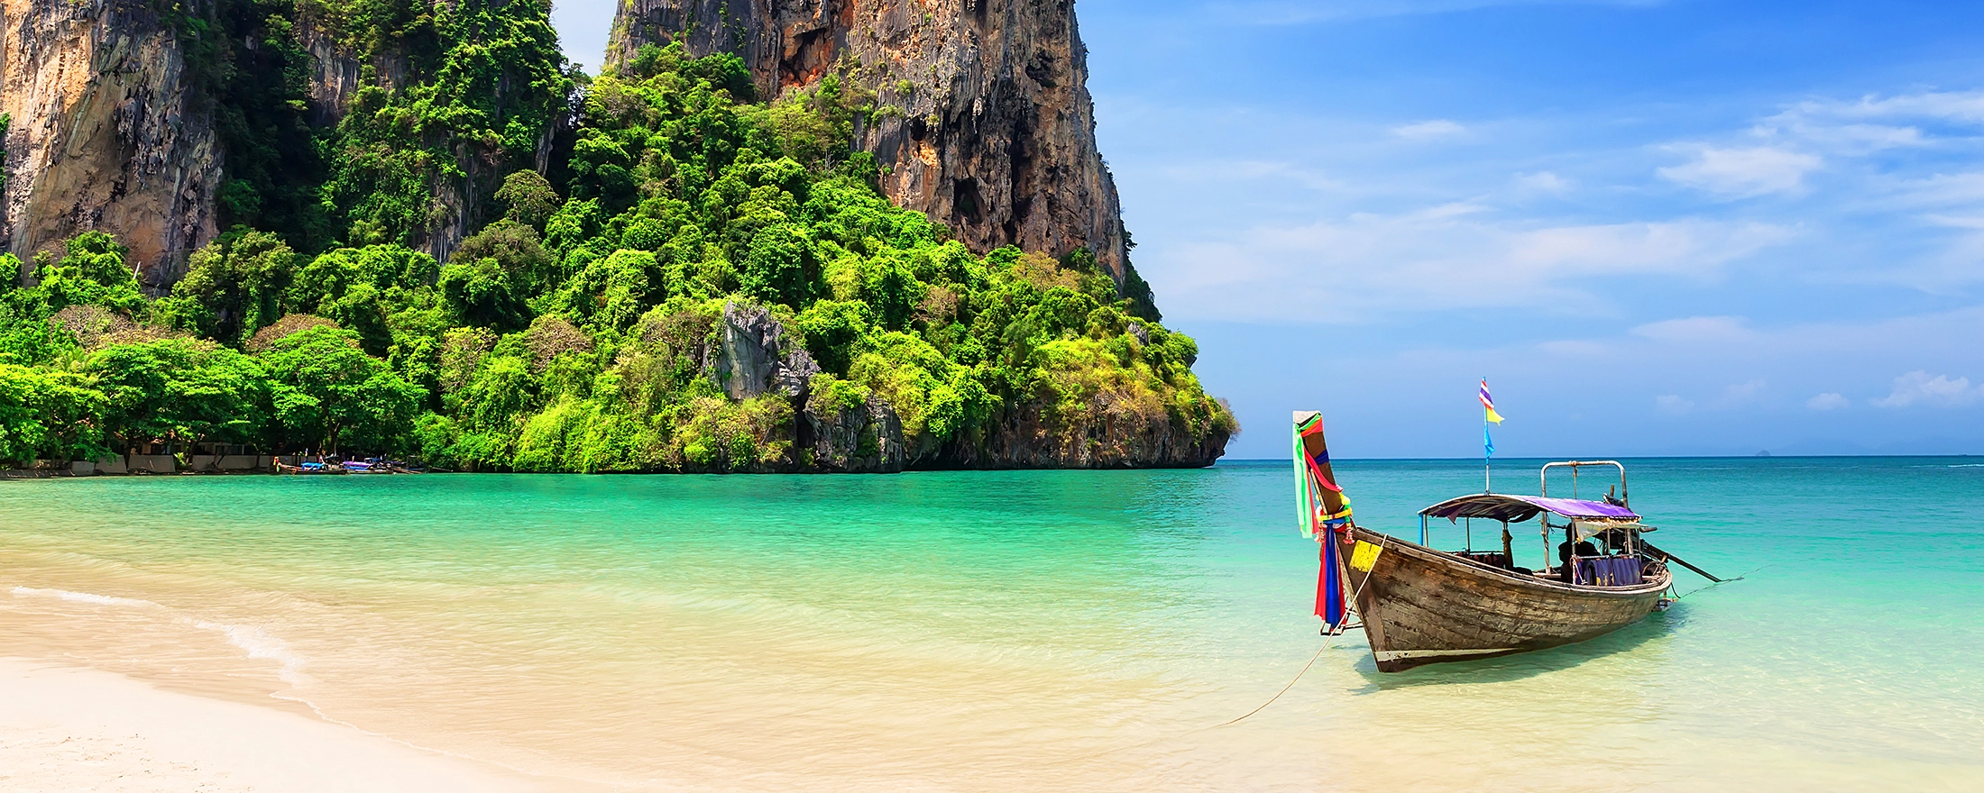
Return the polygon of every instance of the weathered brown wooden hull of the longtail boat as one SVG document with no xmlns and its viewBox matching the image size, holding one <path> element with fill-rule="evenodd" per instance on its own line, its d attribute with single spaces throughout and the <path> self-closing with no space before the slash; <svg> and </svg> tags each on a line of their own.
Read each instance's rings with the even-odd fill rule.
<svg viewBox="0 0 1984 793">
<path fill-rule="evenodd" d="M 1353 539 L 1383 545 L 1369 571 L 1355 567 Z M 1339 559 L 1379 672 L 1603 636 L 1653 613 L 1671 581 L 1659 569 L 1635 587 L 1571 587 L 1359 527 Z"/>
</svg>

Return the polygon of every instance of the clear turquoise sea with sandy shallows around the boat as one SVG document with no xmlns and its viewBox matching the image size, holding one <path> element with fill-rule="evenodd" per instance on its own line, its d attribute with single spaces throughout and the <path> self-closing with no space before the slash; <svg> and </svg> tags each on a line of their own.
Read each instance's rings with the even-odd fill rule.
<svg viewBox="0 0 1984 793">
<path fill-rule="evenodd" d="M 1407 537 L 1480 486 L 1468 462 L 1337 470 Z M 1228 728 L 1323 644 L 1284 462 L 0 482 L 0 652 L 550 787 L 1976 789 L 1984 466 L 1629 470 L 1655 541 L 1748 577 L 1678 573 L 1692 593 L 1611 636 L 1405 674 L 1343 636 Z"/>
</svg>

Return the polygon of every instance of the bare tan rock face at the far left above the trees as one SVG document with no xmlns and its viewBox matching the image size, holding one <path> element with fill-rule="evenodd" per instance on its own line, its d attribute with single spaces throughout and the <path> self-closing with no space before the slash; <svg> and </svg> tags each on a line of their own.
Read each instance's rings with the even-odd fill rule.
<svg viewBox="0 0 1984 793">
<path fill-rule="evenodd" d="M 212 240 L 212 117 L 153 4 L 0 0 L 0 113 L 12 119 L 0 244 L 22 260 L 103 230 L 159 289 Z"/>
</svg>

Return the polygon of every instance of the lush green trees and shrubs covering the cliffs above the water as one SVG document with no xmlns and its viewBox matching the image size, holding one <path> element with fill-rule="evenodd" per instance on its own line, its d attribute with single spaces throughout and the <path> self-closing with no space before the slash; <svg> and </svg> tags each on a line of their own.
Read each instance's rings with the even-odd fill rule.
<svg viewBox="0 0 1984 793">
<path fill-rule="evenodd" d="M 1234 432 L 1089 252 L 976 256 L 891 206 L 849 145 L 873 97 L 833 77 L 758 103 L 740 59 L 647 48 L 587 79 L 530 2 L 220 10 L 192 22 L 260 36 L 196 61 L 234 226 L 159 297 L 95 232 L 0 262 L 32 283 L 0 295 L 0 462 L 1184 464 Z M 335 125 L 300 26 L 363 63 Z"/>
</svg>

